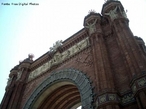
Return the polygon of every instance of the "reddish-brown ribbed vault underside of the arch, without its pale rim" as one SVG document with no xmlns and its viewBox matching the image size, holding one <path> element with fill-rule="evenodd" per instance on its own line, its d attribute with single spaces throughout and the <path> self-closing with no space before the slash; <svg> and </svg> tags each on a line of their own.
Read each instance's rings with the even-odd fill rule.
<svg viewBox="0 0 146 109">
<path fill-rule="evenodd" d="M 80 105 L 81 98 L 78 88 L 68 84 L 61 86 L 49 94 L 38 109 L 71 109 Z"/>
</svg>

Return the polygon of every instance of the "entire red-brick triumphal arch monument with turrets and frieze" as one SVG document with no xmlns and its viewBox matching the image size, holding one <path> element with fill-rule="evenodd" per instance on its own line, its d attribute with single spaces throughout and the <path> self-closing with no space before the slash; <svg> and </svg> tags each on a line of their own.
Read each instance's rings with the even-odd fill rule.
<svg viewBox="0 0 146 109">
<path fill-rule="evenodd" d="M 1 109 L 146 109 L 146 48 L 128 22 L 107 0 L 83 29 L 10 71 Z"/>
</svg>

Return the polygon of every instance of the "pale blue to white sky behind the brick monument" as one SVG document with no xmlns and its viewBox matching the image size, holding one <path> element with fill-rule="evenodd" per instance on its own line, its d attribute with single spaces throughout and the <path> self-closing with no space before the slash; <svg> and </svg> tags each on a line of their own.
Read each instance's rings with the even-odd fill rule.
<svg viewBox="0 0 146 109">
<path fill-rule="evenodd" d="M 39 5 L 2 5 L 2 3 Z M 83 28 L 93 9 L 100 13 L 104 0 L 1 0 L 0 1 L 0 102 L 10 70 L 33 53 L 37 59 L 57 40 Z M 146 0 L 121 0 L 134 35 L 146 42 Z"/>
</svg>

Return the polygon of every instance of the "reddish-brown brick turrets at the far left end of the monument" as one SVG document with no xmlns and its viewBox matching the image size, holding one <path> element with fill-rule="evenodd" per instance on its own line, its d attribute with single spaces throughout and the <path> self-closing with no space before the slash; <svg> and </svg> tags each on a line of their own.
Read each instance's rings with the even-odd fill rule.
<svg viewBox="0 0 146 109">
<path fill-rule="evenodd" d="M 21 97 L 24 93 L 25 84 L 28 78 L 28 72 L 33 55 L 29 55 L 19 65 L 15 66 L 9 74 L 4 99 L 2 100 L 1 109 L 19 109 Z"/>
</svg>

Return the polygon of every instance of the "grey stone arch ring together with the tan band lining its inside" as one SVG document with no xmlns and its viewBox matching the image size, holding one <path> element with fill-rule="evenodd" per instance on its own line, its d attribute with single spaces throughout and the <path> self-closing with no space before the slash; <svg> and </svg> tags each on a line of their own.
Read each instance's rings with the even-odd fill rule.
<svg viewBox="0 0 146 109">
<path fill-rule="evenodd" d="M 39 103 L 45 99 L 45 96 L 64 85 L 76 86 L 80 93 L 82 108 L 93 109 L 94 94 L 91 81 L 84 73 L 75 69 L 52 72 L 31 94 L 23 109 L 37 108 Z"/>
</svg>

